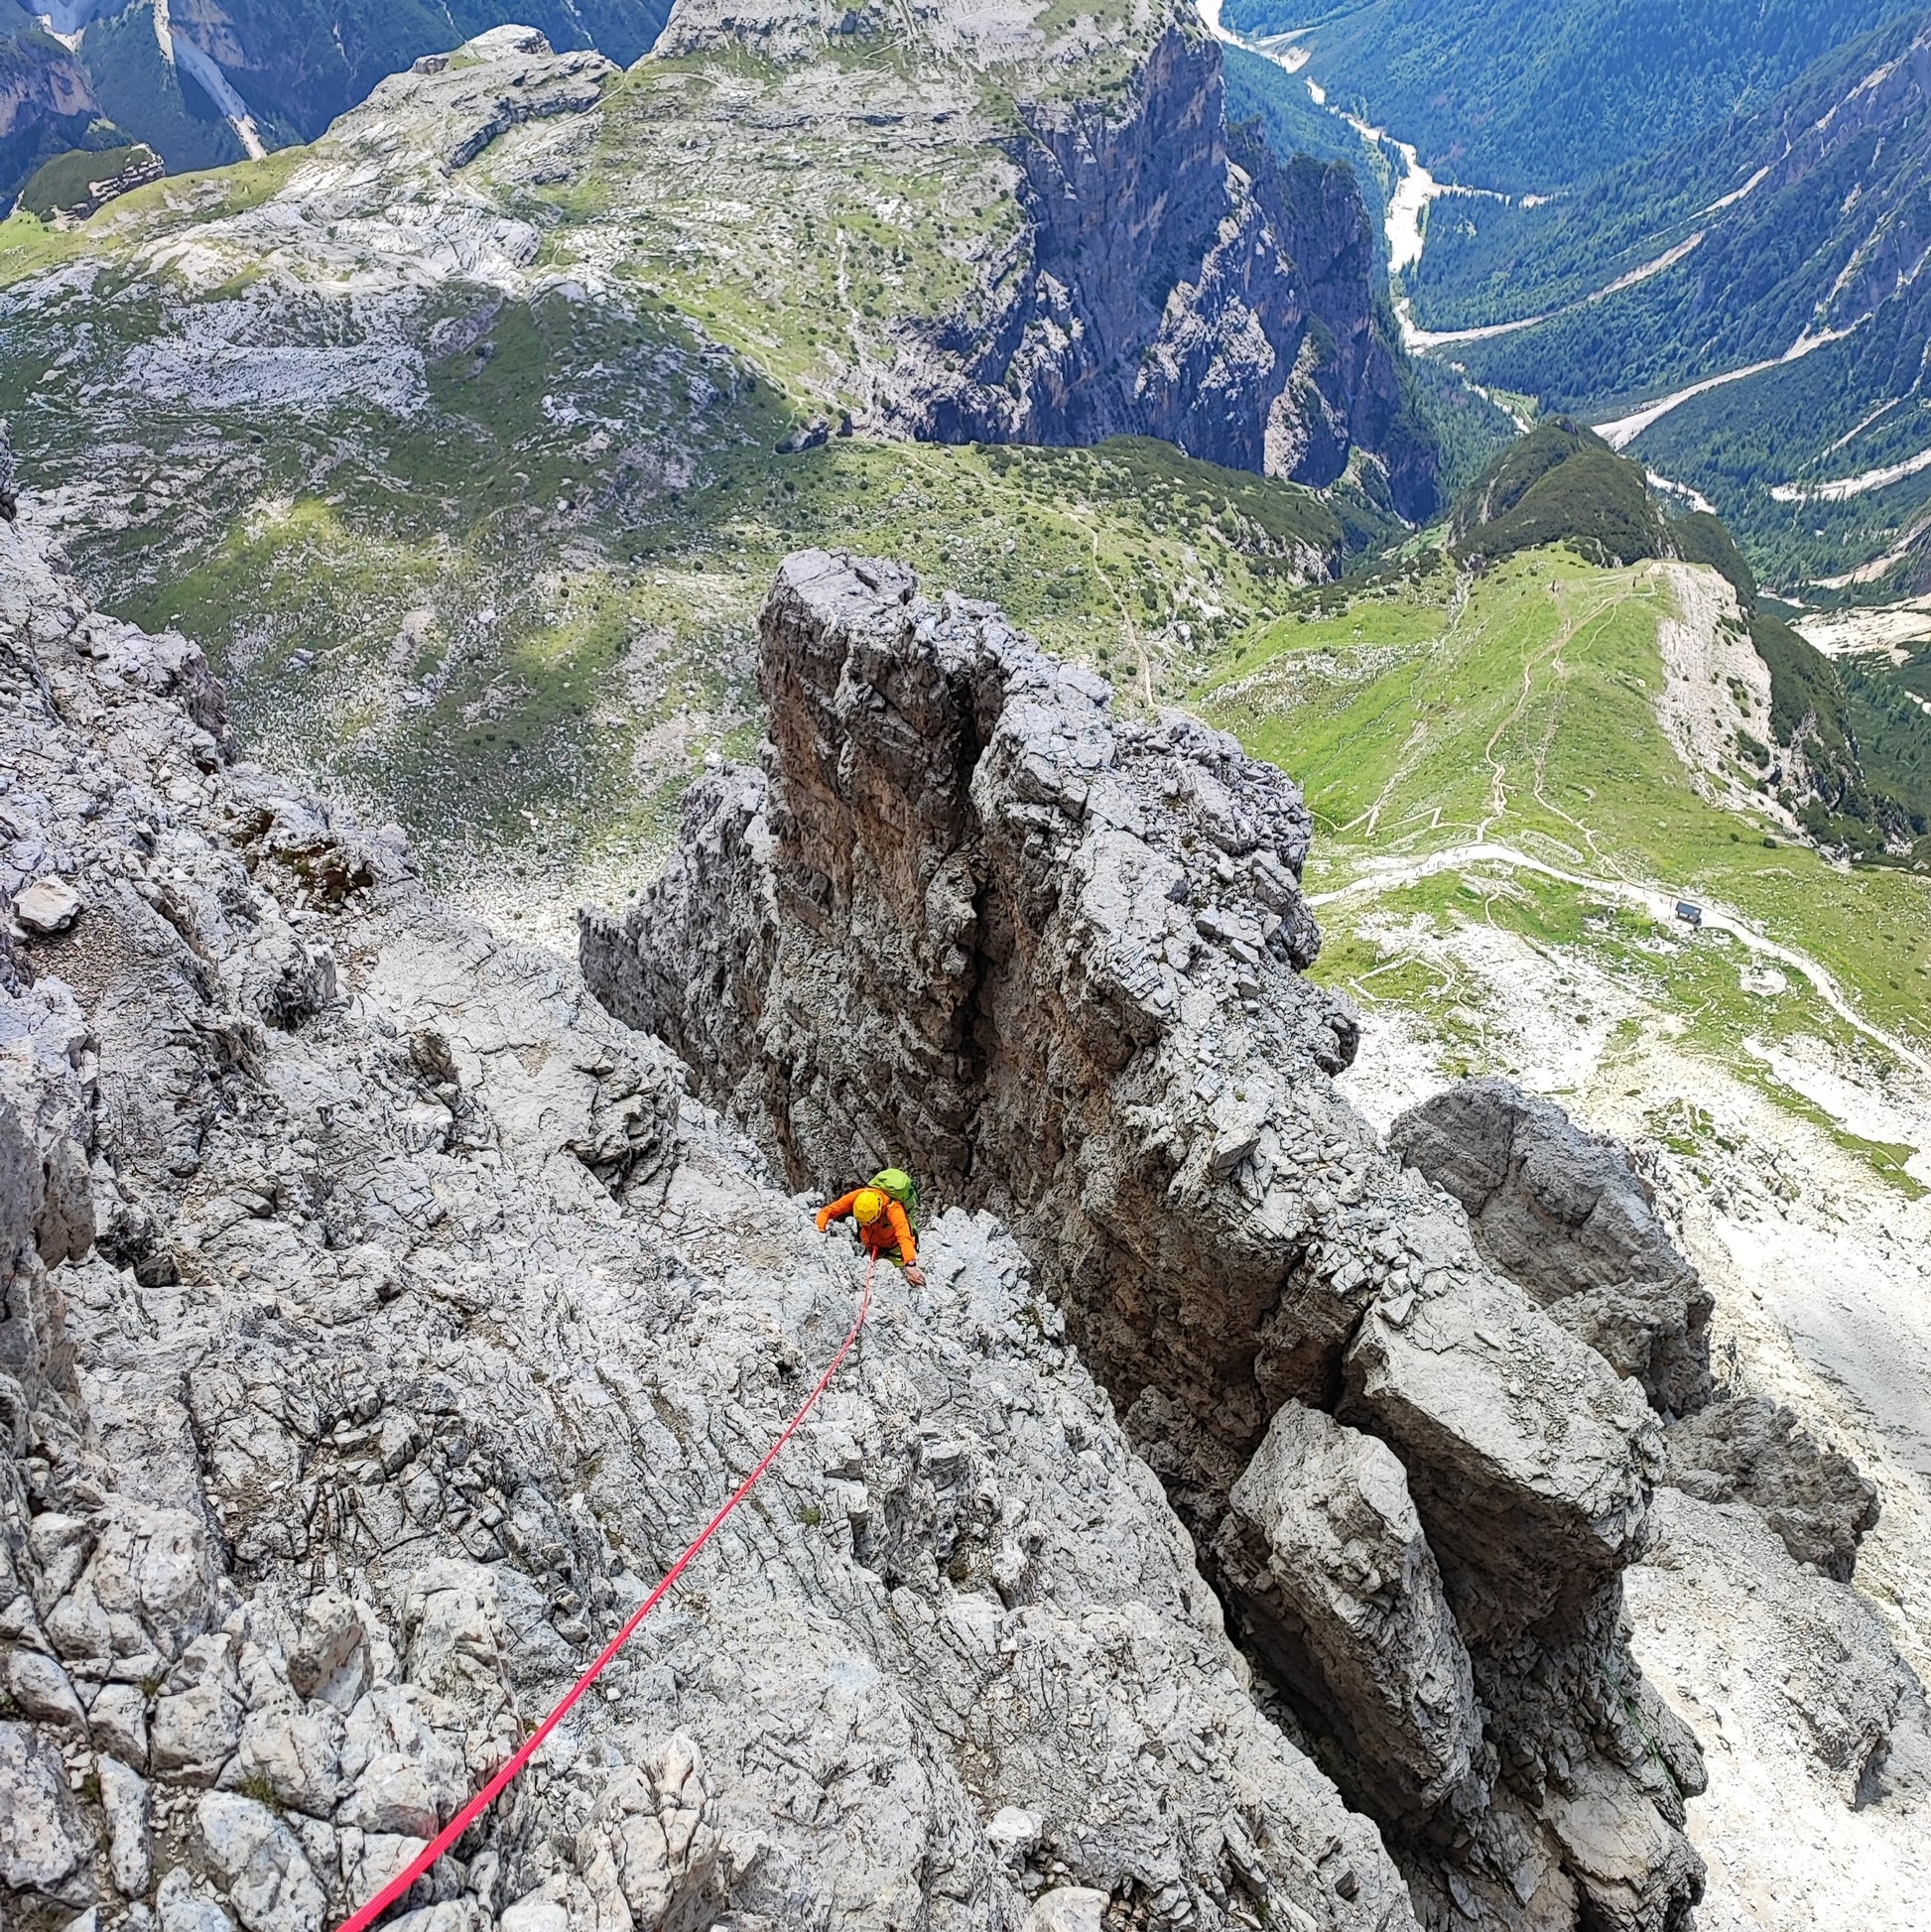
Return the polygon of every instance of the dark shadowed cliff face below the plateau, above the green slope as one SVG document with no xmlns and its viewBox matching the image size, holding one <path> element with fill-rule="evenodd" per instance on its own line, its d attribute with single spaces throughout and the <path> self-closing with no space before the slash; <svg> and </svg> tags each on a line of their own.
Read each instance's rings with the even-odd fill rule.
<svg viewBox="0 0 1931 1932">
<path fill-rule="evenodd" d="M 963 367 L 907 357 L 901 410 L 947 442 L 1150 435 L 1189 456 L 1322 487 L 1359 448 L 1413 522 L 1438 506 L 1434 444 L 1374 313 L 1353 174 L 1229 135 L 1220 48 L 1175 25 L 1121 118 L 1024 110 L 1024 257 Z"/>
</svg>

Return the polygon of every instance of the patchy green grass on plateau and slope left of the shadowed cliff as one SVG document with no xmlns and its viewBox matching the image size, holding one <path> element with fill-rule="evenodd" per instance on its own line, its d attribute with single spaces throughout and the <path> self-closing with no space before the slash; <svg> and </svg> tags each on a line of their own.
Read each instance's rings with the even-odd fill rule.
<svg viewBox="0 0 1931 1932">
<path fill-rule="evenodd" d="M 1067 85 L 1104 93 L 1102 52 L 1069 52 Z M 130 350 L 249 313 L 189 299 L 141 249 L 193 232 L 245 296 L 259 247 L 220 218 L 305 155 L 160 184 L 72 234 L 8 222 L 0 294 L 62 263 L 95 278 L 0 328 L 0 415 L 39 489 L 108 481 L 73 551 L 110 607 L 201 638 L 251 748 L 398 819 L 448 885 L 506 867 L 530 898 L 609 891 L 706 750 L 748 744 L 756 605 L 798 545 L 907 556 L 1146 703 L 1380 526 L 1144 442 L 777 454 L 856 404 L 897 317 L 957 303 L 1019 220 L 999 75 L 951 71 L 943 122 L 930 81 L 885 37 L 789 68 L 649 60 L 570 166 L 520 162 L 547 129 L 499 141 L 466 185 L 532 222 L 539 278 L 584 286 L 441 284 L 410 334 L 437 323 L 445 348 L 402 415 L 187 408 L 126 379 Z M 242 340 L 311 340 L 290 315 Z"/>
</svg>

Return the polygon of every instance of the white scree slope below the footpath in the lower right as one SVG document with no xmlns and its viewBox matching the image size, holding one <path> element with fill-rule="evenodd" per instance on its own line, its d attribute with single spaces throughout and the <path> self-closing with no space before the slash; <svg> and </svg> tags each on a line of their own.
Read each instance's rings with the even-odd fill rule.
<svg viewBox="0 0 1931 1932">
<path fill-rule="evenodd" d="M 1749 1063 L 1686 1049 L 1674 1009 L 1645 1012 L 1587 952 L 1481 916 L 1436 935 L 1382 918 L 1351 923 L 1349 939 L 1367 929 L 1384 956 L 1413 947 L 1430 974 L 1457 976 L 1490 1065 L 1626 1136 L 1670 1238 L 1716 1300 L 1715 1401 L 1666 1428 L 1657 1536 L 1624 1573 L 1635 1654 L 1709 1762 L 1709 1789 L 1689 1808 L 1707 1861 L 1697 1926 L 1916 1932 L 1931 1876 L 1931 1459 L 1919 1395 L 1931 1204 L 1873 1186 L 1865 1163 L 1767 1099 Z M 1454 1090 L 1465 1061 L 1427 1020 L 1374 1010 L 1343 1084 L 1394 1132 L 1403 1113 Z M 1786 1076 L 1807 1078 L 1800 1065 L 1823 1063 L 1811 1053 L 1780 1063 Z M 1819 1092 L 1846 1105 L 1842 1092 Z M 1923 1090 L 1908 1074 L 1890 1074 L 1881 1095 L 1875 1082 L 1861 1092 L 1873 1109 L 1850 1111 L 1861 1132 L 1927 1144 Z M 1687 1150 L 1684 1119 L 1709 1122 Z M 1778 1437 L 1796 1435 L 1792 1416 L 1811 1437 L 1792 1441 L 1794 1464 L 1778 1451 Z M 1680 1439 L 1732 1430 L 1734 1445 Z M 1749 1472 L 1759 1451 L 1761 1476 Z M 1801 1486 L 1786 1484 L 1800 1470 Z M 1883 1515 L 1859 1534 L 1865 1484 Z M 1819 1509 L 1834 1488 L 1838 1499 Z M 1852 1548 L 1856 1580 L 1838 1582 L 1823 1557 Z"/>
</svg>

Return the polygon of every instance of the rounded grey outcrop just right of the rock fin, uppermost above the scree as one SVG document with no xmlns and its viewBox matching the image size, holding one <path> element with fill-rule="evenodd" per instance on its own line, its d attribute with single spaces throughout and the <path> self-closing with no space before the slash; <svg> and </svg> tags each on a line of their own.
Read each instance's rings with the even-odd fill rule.
<svg viewBox="0 0 1931 1932">
<path fill-rule="evenodd" d="M 1401 1115 L 1388 1140 L 1461 1202 L 1486 1260 L 1660 1414 L 1711 1399 L 1711 1296 L 1622 1146 L 1508 1080 L 1465 1080 Z"/>
</svg>

